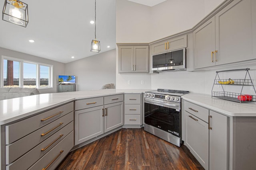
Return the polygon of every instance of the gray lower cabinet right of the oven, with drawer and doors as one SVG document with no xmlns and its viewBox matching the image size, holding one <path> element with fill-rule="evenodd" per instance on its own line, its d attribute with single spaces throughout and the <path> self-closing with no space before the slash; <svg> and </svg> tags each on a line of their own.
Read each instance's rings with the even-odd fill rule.
<svg viewBox="0 0 256 170">
<path fill-rule="evenodd" d="M 187 101 L 183 108 L 184 145 L 206 170 L 228 170 L 229 117 Z"/>
</svg>

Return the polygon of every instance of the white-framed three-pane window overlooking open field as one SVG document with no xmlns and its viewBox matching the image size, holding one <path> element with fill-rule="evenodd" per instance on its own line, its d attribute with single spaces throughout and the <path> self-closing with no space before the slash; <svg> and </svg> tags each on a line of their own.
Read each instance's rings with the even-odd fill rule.
<svg viewBox="0 0 256 170">
<path fill-rule="evenodd" d="M 2 56 L 2 87 L 52 88 L 52 65 Z"/>
</svg>

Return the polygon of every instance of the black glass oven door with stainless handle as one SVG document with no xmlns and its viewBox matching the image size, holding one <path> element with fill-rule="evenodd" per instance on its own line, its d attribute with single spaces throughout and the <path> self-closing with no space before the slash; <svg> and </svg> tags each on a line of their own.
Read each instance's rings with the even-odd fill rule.
<svg viewBox="0 0 256 170">
<path fill-rule="evenodd" d="M 162 129 L 180 137 L 180 104 L 175 102 L 161 103 L 156 99 L 144 100 L 145 124 Z"/>
</svg>

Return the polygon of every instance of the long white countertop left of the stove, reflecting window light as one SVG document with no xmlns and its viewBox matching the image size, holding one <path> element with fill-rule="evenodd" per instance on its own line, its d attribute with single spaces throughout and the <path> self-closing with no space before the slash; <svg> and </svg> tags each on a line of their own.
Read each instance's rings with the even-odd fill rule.
<svg viewBox="0 0 256 170">
<path fill-rule="evenodd" d="M 0 125 L 31 116 L 74 100 L 125 93 L 144 93 L 150 89 L 104 89 L 76 92 L 38 94 L 21 98 L 0 100 Z"/>
</svg>

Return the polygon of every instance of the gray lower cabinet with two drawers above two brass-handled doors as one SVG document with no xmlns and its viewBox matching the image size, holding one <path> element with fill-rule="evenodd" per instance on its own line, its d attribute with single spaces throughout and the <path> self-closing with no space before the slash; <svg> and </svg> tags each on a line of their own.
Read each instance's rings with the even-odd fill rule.
<svg viewBox="0 0 256 170">
<path fill-rule="evenodd" d="M 124 124 L 124 95 L 75 101 L 75 145 Z"/>
</svg>

